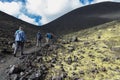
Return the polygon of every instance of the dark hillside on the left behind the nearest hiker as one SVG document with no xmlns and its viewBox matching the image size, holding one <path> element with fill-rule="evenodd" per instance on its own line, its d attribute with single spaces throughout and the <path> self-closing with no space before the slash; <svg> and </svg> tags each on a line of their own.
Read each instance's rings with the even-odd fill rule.
<svg viewBox="0 0 120 80">
<path fill-rule="evenodd" d="M 14 41 L 14 33 L 19 26 L 24 28 L 29 42 L 35 39 L 36 32 L 39 29 L 37 26 L 0 12 L 0 51 L 3 49 L 10 49 Z"/>
</svg>

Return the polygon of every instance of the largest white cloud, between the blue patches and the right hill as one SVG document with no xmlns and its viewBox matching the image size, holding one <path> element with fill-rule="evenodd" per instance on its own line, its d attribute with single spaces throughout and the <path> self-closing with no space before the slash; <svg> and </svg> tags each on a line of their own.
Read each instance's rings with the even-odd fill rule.
<svg viewBox="0 0 120 80">
<path fill-rule="evenodd" d="M 46 24 L 80 6 L 79 0 L 27 0 L 26 9 L 42 16 L 41 23 Z"/>
</svg>

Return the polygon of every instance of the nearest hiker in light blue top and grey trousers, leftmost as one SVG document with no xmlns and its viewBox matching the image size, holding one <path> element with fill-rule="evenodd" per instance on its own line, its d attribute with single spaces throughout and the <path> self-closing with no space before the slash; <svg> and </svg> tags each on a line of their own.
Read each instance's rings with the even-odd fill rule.
<svg viewBox="0 0 120 80">
<path fill-rule="evenodd" d="M 24 42 L 26 41 L 26 36 L 23 31 L 22 27 L 19 27 L 19 30 L 15 32 L 15 49 L 14 49 L 14 56 L 16 56 L 16 53 L 18 49 L 20 48 L 20 53 L 23 55 L 23 48 L 24 48 Z"/>
</svg>

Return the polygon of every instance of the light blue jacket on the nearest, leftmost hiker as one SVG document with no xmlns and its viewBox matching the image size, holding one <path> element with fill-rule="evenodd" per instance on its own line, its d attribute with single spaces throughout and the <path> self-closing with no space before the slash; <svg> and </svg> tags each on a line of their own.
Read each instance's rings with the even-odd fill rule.
<svg viewBox="0 0 120 80">
<path fill-rule="evenodd" d="M 15 32 L 15 41 L 26 41 L 26 36 L 25 36 L 25 33 L 24 31 L 22 30 L 17 30 Z"/>
</svg>

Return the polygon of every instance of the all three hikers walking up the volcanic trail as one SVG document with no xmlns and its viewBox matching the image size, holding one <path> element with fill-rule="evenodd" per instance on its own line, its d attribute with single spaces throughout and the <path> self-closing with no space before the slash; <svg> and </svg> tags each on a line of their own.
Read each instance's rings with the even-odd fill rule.
<svg viewBox="0 0 120 80">
<path fill-rule="evenodd" d="M 51 40 L 53 39 L 53 34 L 52 33 L 46 33 L 45 39 L 46 43 L 50 43 Z M 23 48 L 24 48 L 24 43 L 26 42 L 26 35 L 25 32 L 23 31 L 23 27 L 19 27 L 19 29 L 15 32 L 15 47 L 14 47 L 14 57 L 16 57 L 16 53 L 18 52 L 18 49 L 20 48 L 20 54 L 23 55 Z M 41 47 L 41 41 L 43 39 L 43 36 L 40 32 L 40 30 L 36 34 L 36 46 Z"/>
</svg>

